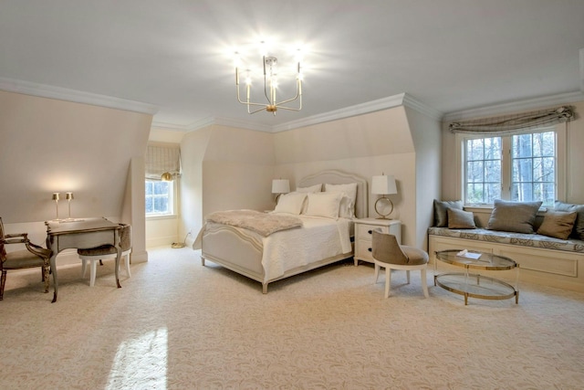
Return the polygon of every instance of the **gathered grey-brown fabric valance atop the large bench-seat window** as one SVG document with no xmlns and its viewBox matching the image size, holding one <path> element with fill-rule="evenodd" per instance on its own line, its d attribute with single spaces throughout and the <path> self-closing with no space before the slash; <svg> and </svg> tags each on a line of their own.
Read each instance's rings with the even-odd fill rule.
<svg viewBox="0 0 584 390">
<path fill-rule="evenodd" d="M 451 123 L 449 128 L 451 132 L 512 134 L 572 121 L 574 117 L 574 110 L 571 107 L 562 106 L 556 109 L 522 112 L 474 121 L 456 121 Z"/>
</svg>

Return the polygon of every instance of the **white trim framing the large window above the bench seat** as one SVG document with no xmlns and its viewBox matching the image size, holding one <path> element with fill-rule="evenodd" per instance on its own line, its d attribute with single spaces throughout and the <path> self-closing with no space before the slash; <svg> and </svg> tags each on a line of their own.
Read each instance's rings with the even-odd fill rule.
<svg viewBox="0 0 584 390">
<path fill-rule="evenodd" d="M 568 185 L 566 183 L 567 176 L 567 168 L 568 168 L 568 126 L 567 122 L 558 123 L 555 126 L 550 126 L 548 129 L 555 128 L 556 131 L 556 199 L 562 202 L 566 201 L 567 195 L 567 188 Z M 531 129 L 533 132 L 538 132 L 537 129 Z M 527 131 L 527 133 L 531 133 Z M 509 134 L 503 135 L 503 137 L 508 136 Z M 456 162 L 456 194 L 460 196 L 460 199 L 465 199 L 464 197 L 464 142 L 470 138 L 486 138 L 492 137 L 493 135 L 490 134 L 480 134 L 480 135 L 473 135 L 463 132 L 457 132 L 454 134 L 455 144 L 457 145 L 456 155 L 455 155 L 455 162 Z M 510 163 L 510 159 L 508 159 L 508 163 L 503 163 L 505 160 L 502 160 L 501 169 L 510 169 L 508 163 Z M 464 206 L 468 207 L 493 207 L 493 205 L 485 204 L 485 205 L 467 205 Z"/>
</svg>

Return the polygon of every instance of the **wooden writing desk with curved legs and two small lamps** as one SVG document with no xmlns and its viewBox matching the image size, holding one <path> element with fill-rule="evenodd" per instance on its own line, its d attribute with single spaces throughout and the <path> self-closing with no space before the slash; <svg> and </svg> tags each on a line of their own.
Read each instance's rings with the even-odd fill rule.
<svg viewBox="0 0 584 390">
<path fill-rule="evenodd" d="M 68 248 L 86 249 L 96 248 L 102 245 L 112 245 L 118 250 L 116 257 L 116 283 L 120 286 L 118 268 L 120 266 L 120 225 L 115 224 L 106 218 L 85 218 L 73 221 L 46 221 L 47 225 L 47 248 L 51 250 L 51 272 L 53 273 L 53 284 L 55 294 L 53 302 L 57 301 L 57 267 L 56 259 L 60 251 Z"/>
</svg>

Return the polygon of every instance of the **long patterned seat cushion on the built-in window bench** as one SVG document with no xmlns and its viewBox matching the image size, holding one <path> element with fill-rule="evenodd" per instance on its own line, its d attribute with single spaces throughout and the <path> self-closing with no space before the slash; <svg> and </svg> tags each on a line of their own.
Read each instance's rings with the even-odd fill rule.
<svg viewBox="0 0 584 390">
<path fill-rule="evenodd" d="M 568 238 L 559 239 L 538 234 L 512 233 L 499 230 L 475 229 L 449 229 L 447 227 L 430 227 L 428 234 L 433 236 L 454 237 L 487 241 L 499 244 L 518 245 L 531 248 L 545 248 L 578 252 L 584 254 L 584 241 Z"/>
</svg>

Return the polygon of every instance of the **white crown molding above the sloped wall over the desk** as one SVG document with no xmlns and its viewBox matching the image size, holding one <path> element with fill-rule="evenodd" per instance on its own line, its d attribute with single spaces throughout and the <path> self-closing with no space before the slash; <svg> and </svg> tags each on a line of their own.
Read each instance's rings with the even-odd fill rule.
<svg viewBox="0 0 584 390">
<path fill-rule="evenodd" d="M 67 88 L 54 87 L 45 84 L 37 84 L 20 79 L 8 79 L 0 77 L 0 90 L 22 93 L 24 95 L 37 96 L 57 100 L 72 101 L 75 103 L 90 104 L 93 106 L 107 107 L 123 111 L 140 112 L 154 115 L 158 107 L 142 103 L 140 101 L 112 98 L 97 93 L 83 92 L 81 90 L 68 90 Z"/>
</svg>

